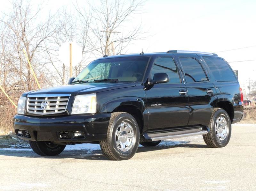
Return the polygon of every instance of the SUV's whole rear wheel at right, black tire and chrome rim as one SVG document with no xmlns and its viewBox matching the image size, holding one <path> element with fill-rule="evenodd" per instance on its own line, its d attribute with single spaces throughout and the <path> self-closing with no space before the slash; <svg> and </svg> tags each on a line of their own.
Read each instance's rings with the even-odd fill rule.
<svg viewBox="0 0 256 191">
<path fill-rule="evenodd" d="M 224 109 L 213 109 L 210 132 L 203 135 L 204 142 L 212 148 L 225 147 L 231 137 L 231 120 Z"/>
</svg>

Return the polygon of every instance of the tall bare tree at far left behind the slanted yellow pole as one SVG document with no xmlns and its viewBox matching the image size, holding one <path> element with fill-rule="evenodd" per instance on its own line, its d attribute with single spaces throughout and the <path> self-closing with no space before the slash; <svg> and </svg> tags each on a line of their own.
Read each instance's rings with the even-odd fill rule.
<svg viewBox="0 0 256 191">
<path fill-rule="evenodd" d="M 22 49 L 27 52 L 28 59 L 33 64 L 34 70 L 38 78 L 42 78 L 44 64 L 38 58 L 43 42 L 50 38 L 55 31 L 52 30 L 53 16 L 48 16 L 44 22 L 38 22 L 38 13 L 40 7 L 34 12 L 32 6 L 24 4 L 23 1 L 14 1 L 12 3 L 13 11 L 11 14 L 5 14 L 3 19 L 0 19 L 2 25 L 7 27 L 9 31 L 8 46 L 5 47 L 5 54 L 9 54 L 8 64 L 12 68 L 16 82 L 21 91 L 28 91 L 36 88 L 35 80 L 32 80 L 30 67 Z M 33 9 L 34 10 L 34 9 Z M 17 75 L 18 74 L 18 75 Z"/>
</svg>

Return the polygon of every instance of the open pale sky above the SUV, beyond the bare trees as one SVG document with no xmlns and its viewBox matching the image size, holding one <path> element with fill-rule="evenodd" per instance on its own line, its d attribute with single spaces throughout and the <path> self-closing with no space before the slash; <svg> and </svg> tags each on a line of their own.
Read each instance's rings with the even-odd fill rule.
<svg viewBox="0 0 256 191">
<path fill-rule="evenodd" d="M 82 0 L 78 2 L 86 4 Z M 63 5 L 72 6 L 72 2 L 55 0 L 48 1 L 48 5 L 45 11 L 56 11 Z M 255 0 L 148 0 L 141 11 L 143 13 L 130 18 L 123 30 L 142 21 L 148 37 L 130 44 L 127 53 L 139 53 L 142 48 L 144 52 L 215 52 L 225 58 L 233 70 L 238 70 L 242 86 L 247 86 L 249 78 L 256 80 Z M 236 48 L 243 49 L 225 51 Z"/>
</svg>

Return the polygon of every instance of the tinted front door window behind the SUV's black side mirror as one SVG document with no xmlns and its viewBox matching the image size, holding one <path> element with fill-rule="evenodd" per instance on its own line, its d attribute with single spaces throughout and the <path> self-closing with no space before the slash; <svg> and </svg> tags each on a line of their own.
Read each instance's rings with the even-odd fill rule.
<svg viewBox="0 0 256 191">
<path fill-rule="evenodd" d="M 153 78 L 154 74 L 156 73 L 168 74 L 170 81 L 166 84 L 181 83 L 178 69 L 173 61 L 173 58 L 171 57 L 160 57 L 155 59 L 150 72 L 151 78 Z"/>
</svg>

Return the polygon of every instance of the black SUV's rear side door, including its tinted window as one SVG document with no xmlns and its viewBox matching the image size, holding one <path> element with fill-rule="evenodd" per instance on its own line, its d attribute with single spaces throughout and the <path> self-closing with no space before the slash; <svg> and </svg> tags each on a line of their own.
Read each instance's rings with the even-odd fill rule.
<svg viewBox="0 0 256 191">
<path fill-rule="evenodd" d="M 212 101 L 216 99 L 214 84 L 196 54 L 179 55 L 179 61 L 188 91 L 188 126 L 208 125 L 213 110 Z"/>
</svg>

